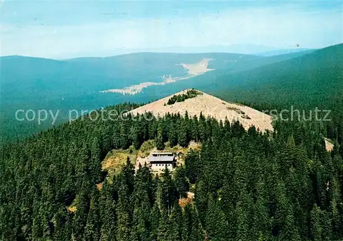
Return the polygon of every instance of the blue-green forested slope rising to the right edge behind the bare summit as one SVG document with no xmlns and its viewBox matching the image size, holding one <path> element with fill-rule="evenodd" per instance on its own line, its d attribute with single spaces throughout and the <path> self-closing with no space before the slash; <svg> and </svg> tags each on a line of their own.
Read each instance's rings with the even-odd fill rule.
<svg viewBox="0 0 343 241">
<path fill-rule="evenodd" d="M 323 103 L 342 96 L 343 45 L 237 62 L 233 68 L 170 85 L 195 86 L 235 101 Z M 330 97 L 330 98 L 329 98 Z M 325 101 L 324 101 L 325 102 Z"/>
</svg>

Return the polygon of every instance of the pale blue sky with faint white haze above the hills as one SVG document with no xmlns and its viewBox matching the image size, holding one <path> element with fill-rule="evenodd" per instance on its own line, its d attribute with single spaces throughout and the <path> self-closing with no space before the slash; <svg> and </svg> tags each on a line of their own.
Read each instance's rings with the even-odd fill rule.
<svg viewBox="0 0 343 241">
<path fill-rule="evenodd" d="M 342 1 L 5 0 L 0 8 L 1 55 L 75 58 L 229 45 L 320 48 L 343 38 Z"/>
</svg>

